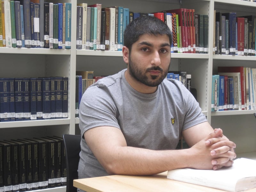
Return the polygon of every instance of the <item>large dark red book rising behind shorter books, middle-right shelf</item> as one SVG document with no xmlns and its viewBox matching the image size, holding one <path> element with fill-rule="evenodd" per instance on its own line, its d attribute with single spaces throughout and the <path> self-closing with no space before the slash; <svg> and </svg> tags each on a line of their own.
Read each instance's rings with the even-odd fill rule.
<svg viewBox="0 0 256 192">
<path fill-rule="evenodd" d="M 244 89 L 244 67 L 218 67 L 218 73 L 238 73 L 240 72 L 241 78 L 241 100 L 242 100 L 242 110 L 245 109 L 245 89 Z"/>
</svg>

